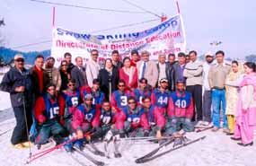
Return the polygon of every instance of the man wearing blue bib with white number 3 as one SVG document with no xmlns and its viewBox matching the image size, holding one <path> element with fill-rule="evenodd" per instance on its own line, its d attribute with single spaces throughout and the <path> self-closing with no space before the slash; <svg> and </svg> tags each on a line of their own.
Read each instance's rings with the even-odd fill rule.
<svg viewBox="0 0 256 166">
<path fill-rule="evenodd" d="M 124 109 L 128 105 L 128 97 L 132 96 L 132 93 L 127 90 L 124 80 L 119 80 L 118 88 L 119 90 L 112 93 L 112 99 L 110 101 L 112 111 L 114 112 Z"/>
</svg>

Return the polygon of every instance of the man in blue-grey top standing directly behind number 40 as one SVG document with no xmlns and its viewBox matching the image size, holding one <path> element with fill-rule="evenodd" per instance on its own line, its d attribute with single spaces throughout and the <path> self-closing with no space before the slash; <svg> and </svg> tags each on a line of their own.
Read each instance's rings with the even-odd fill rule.
<svg viewBox="0 0 256 166">
<path fill-rule="evenodd" d="M 183 76 L 183 71 L 186 66 L 186 55 L 183 52 L 180 52 L 178 54 L 178 63 L 173 65 L 174 68 L 174 80 L 175 84 L 177 83 L 178 80 L 183 80 L 185 81 L 185 78 Z"/>
</svg>

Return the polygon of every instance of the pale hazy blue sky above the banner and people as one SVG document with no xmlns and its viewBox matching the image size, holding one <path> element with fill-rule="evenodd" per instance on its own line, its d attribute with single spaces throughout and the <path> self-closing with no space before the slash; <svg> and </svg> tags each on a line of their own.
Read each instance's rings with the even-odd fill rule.
<svg viewBox="0 0 256 166">
<path fill-rule="evenodd" d="M 44 1 L 143 12 L 124 0 Z M 164 13 L 169 18 L 177 14 L 174 0 L 129 1 L 150 12 L 159 15 Z M 209 50 L 215 50 L 209 43 L 217 40 L 222 41 L 217 49 L 223 49 L 227 57 L 245 57 L 256 54 L 255 0 L 179 0 L 179 3 L 189 50 L 197 50 L 199 55 L 205 54 Z M 55 6 L 56 26 L 82 33 L 157 19 L 151 13 L 113 13 Z M 51 40 L 52 7 L 52 4 L 41 4 L 30 0 L 0 0 L 0 20 L 4 18 L 6 24 L 0 27 L 4 46 L 22 51 L 49 49 L 51 42 L 30 47 L 19 48 L 19 46 Z M 104 31 L 101 34 L 143 31 L 159 22 L 160 20 Z"/>
</svg>

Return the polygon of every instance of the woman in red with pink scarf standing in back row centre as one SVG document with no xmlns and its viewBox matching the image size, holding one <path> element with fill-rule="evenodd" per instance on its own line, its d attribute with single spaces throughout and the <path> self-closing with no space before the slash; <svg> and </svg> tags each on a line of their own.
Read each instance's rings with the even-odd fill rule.
<svg viewBox="0 0 256 166">
<path fill-rule="evenodd" d="M 137 68 L 131 66 L 129 57 L 123 60 L 123 67 L 119 69 L 119 78 L 126 82 L 128 89 L 137 88 Z"/>
</svg>

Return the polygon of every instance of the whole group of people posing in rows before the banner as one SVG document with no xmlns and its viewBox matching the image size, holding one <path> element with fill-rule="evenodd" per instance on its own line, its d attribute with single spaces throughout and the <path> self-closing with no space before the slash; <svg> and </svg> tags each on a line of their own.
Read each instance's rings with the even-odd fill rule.
<svg viewBox="0 0 256 166">
<path fill-rule="evenodd" d="M 38 148 L 50 137 L 61 143 L 76 135 L 71 146 L 66 144 L 71 151 L 72 145 L 82 148 L 84 140 L 109 141 L 113 135 L 131 134 L 161 139 L 195 127 L 212 127 L 213 132 L 222 127 L 231 139 L 242 140 L 238 144 L 253 144 L 254 63 L 229 65 L 223 51 L 207 53 L 205 62 L 196 51 L 189 56 L 160 54 L 155 62 L 148 51 L 132 50 L 130 57 L 121 59 L 114 50 L 104 66 L 98 57 L 93 49 L 86 64 L 83 57 L 75 57 L 74 65 L 66 53 L 57 68 L 54 57 L 39 55 L 29 70 L 22 55 L 14 57 L 0 90 L 11 96 L 15 147 L 31 144 L 29 130 L 37 131 L 31 140 Z"/>
</svg>

